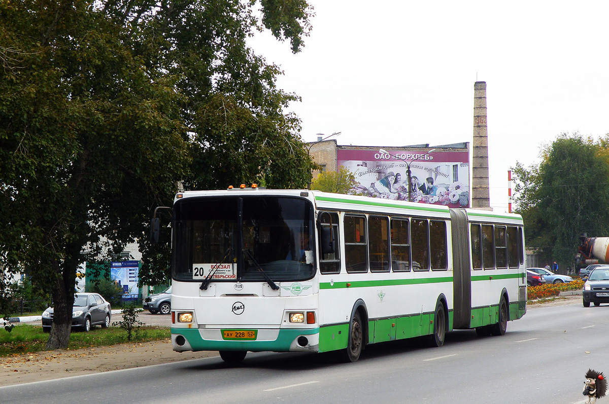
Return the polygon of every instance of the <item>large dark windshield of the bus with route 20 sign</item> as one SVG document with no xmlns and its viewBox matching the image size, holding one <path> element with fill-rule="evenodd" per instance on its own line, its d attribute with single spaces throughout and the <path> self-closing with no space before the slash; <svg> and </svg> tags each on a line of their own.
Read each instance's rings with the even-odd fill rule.
<svg viewBox="0 0 609 404">
<path fill-rule="evenodd" d="M 187 198 L 175 204 L 174 213 L 176 280 L 281 282 L 315 274 L 314 211 L 308 200 Z"/>
</svg>

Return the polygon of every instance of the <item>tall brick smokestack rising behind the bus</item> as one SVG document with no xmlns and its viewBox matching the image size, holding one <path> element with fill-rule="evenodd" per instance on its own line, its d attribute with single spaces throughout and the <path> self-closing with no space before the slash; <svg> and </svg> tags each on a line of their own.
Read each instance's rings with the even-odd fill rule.
<svg viewBox="0 0 609 404">
<path fill-rule="evenodd" d="M 488 193 L 487 83 L 474 83 L 471 207 L 490 209 Z"/>
</svg>

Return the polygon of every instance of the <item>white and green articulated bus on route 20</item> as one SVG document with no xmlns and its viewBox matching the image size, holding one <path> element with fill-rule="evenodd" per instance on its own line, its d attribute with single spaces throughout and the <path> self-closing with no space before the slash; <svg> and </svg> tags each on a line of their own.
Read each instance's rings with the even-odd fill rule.
<svg viewBox="0 0 609 404">
<path fill-rule="evenodd" d="M 519 215 L 315 190 L 181 192 L 172 345 L 231 362 L 248 351 L 356 361 L 382 341 L 503 335 L 526 312 L 525 268 Z"/>
</svg>

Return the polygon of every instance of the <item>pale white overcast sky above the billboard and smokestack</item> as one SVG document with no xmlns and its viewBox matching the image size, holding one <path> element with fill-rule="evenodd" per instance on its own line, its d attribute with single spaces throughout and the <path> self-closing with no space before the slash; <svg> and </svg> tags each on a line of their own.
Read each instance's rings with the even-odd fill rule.
<svg viewBox="0 0 609 404">
<path fill-rule="evenodd" d="M 302 97 L 303 141 L 340 145 L 473 141 L 474 82 L 487 83 L 491 206 L 507 211 L 507 170 L 540 145 L 609 133 L 604 1 L 335 1 L 314 6 L 311 37 L 291 54 L 270 33 L 252 47 Z M 471 176 L 471 170 L 470 170 Z"/>
</svg>

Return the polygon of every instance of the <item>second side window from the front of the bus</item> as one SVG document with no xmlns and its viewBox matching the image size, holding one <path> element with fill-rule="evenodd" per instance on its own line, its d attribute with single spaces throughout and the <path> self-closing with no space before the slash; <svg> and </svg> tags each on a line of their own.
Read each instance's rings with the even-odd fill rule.
<svg viewBox="0 0 609 404">
<path fill-rule="evenodd" d="M 345 215 L 345 266 L 347 272 L 368 272 L 366 218 Z"/>
</svg>

